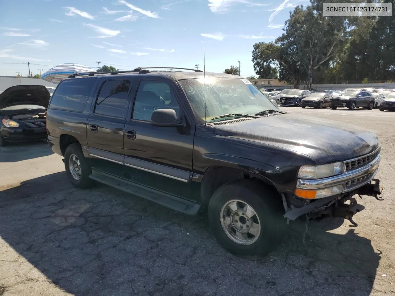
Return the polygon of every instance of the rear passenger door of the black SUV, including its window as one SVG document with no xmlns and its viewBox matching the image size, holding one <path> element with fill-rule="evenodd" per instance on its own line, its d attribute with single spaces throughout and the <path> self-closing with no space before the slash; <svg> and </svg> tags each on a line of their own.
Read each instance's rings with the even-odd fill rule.
<svg viewBox="0 0 395 296">
<path fill-rule="evenodd" d="M 87 124 L 92 166 L 118 173 L 123 169 L 124 127 L 130 89 L 131 80 L 102 79 Z"/>
</svg>

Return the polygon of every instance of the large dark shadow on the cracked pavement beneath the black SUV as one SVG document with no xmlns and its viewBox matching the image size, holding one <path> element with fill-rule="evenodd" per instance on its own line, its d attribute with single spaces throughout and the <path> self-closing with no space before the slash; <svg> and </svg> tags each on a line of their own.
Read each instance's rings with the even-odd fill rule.
<svg viewBox="0 0 395 296">
<path fill-rule="evenodd" d="M 274 253 L 245 260 L 218 245 L 204 216 L 107 186 L 75 189 L 59 172 L 0 191 L 0 256 L 8 256 L 0 261 L 8 270 L 0 287 L 17 294 L 15 285 L 29 278 L 31 268 L 21 268 L 27 260 L 61 289 L 84 296 L 368 296 L 380 252 L 357 228 L 325 231 L 342 223 L 310 221 L 304 236 L 306 224 L 294 221 Z"/>
</svg>

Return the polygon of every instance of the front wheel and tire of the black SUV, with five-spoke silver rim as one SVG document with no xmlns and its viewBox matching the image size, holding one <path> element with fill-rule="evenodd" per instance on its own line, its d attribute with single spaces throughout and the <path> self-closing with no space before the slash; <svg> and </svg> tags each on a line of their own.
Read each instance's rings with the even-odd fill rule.
<svg viewBox="0 0 395 296">
<path fill-rule="evenodd" d="M 208 208 L 209 224 L 218 243 L 229 253 L 246 259 L 259 259 L 271 253 L 281 243 L 287 225 L 280 200 L 275 189 L 251 179 L 241 179 L 219 187 L 211 197 Z M 232 211 L 227 206 L 229 203 L 232 207 L 237 205 L 237 210 Z M 250 207 L 250 210 L 243 210 L 245 205 L 245 209 Z M 228 221 L 229 227 L 226 226 Z M 259 227 L 250 227 L 251 223 Z M 235 236 L 237 227 L 248 228 L 244 234 L 239 232 L 242 238 Z M 257 228 L 260 228 L 259 232 Z M 250 233 L 250 229 L 254 229 L 252 233 L 256 235 Z"/>
</svg>

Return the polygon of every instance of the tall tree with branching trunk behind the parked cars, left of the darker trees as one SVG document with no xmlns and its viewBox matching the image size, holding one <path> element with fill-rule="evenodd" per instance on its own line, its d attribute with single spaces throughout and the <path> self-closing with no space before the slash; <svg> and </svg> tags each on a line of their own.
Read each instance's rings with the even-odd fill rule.
<svg viewBox="0 0 395 296">
<path fill-rule="evenodd" d="M 295 7 L 285 22 L 285 33 L 276 41 L 288 49 L 294 63 L 307 72 L 307 88 L 311 89 L 312 73 L 324 62 L 330 62 L 346 40 L 348 24 L 345 17 L 325 17 L 321 4 Z M 295 65 L 295 64 L 294 64 Z"/>
</svg>

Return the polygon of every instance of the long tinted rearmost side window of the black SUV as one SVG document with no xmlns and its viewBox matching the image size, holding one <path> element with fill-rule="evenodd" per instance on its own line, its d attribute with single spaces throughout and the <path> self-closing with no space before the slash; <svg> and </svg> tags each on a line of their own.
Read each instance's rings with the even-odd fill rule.
<svg viewBox="0 0 395 296">
<path fill-rule="evenodd" d="M 70 79 L 60 82 L 52 95 L 49 109 L 82 112 L 96 82 L 96 78 Z"/>
</svg>

